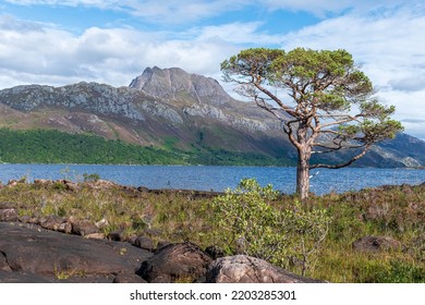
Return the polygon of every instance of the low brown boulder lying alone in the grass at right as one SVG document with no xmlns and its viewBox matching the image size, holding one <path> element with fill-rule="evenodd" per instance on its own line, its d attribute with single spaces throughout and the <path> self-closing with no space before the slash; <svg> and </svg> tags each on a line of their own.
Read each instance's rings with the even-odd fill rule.
<svg viewBox="0 0 425 305">
<path fill-rule="evenodd" d="M 365 236 L 353 244 L 353 249 L 357 252 L 385 252 L 385 251 L 402 251 L 403 245 L 389 236 Z"/>
</svg>

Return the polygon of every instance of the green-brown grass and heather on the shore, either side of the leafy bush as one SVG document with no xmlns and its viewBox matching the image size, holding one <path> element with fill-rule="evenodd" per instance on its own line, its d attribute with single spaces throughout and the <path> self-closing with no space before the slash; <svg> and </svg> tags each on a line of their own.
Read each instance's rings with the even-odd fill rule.
<svg viewBox="0 0 425 305">
<path fill-rule="evenodd" d="M 24 180 L 0 188 L 0 202 L 12 203 L 20 215 L 107 220 L 105 234 L 122 230 L 154 241 L 191 241 L 205 248 L 216 243 L 212 198 L 169 192 L 147 193 L 101 181 L 36 184 Z M 282 195 L 274 205 L 290 206 Z M 326 208 L 333 221 L 317 259 L 306 276 L 330 282 L 425 282 L 425 184 L 393 186 L 344 194 L 313 196 L 305 204 Z M 387 235 L 404 249 L 359 253 L 352 243 L 366 235 Z M 299 272 L 296 266 L 291 271 Z"/>
</svg>

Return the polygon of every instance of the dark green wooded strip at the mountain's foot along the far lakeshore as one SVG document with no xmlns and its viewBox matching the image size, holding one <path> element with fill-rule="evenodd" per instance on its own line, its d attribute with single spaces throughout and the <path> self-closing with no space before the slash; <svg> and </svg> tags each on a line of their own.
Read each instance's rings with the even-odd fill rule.
<svg viewBox="0 0 425 305">
<path fill-rule="evenodd" d="M 142 147 L 100 136 L 68 134 L 54 130 L 0 129 L 0 161 L 8 163 L 99 164 L 217 164 L 291 166 L 287 160 L 260 154 L 240 154 L 208 147 L 184 151 L 167 144 Z"/>
</svg>

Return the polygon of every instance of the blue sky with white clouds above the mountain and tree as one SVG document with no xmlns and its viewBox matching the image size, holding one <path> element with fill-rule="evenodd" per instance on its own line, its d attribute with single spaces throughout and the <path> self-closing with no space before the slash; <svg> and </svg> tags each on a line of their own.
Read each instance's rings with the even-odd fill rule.
<svg viewBox="0 0 425 305">
<path fill-rule="evenodd" d="M 154 65 L 221 81 L 220 63 L 254 47 L 348 50 L 425 139 L 423 0 L 0 0 L 0 89 L 127 86 Z"/>
</svg>

